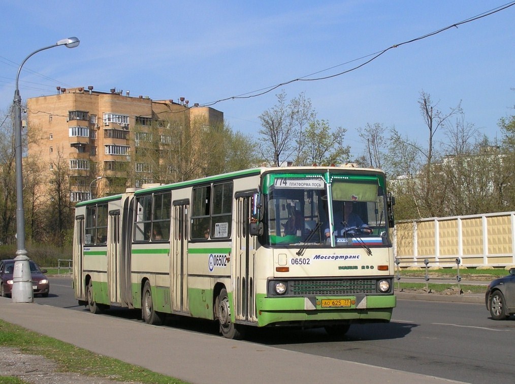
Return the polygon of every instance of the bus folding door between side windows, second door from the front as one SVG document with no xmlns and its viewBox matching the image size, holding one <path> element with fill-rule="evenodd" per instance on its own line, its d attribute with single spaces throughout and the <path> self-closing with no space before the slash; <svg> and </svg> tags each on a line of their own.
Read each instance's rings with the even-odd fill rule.
<svg viewBox="0 0 515 384">
<path fill-rule="evenodd" d="M 170 275 L 172 290 L 172 311 L 188 313 L 188 212 L 189 201 L 174 202 L 174 225 L 172 231 L 173 257 L 171 258 Z"/>
</svg>

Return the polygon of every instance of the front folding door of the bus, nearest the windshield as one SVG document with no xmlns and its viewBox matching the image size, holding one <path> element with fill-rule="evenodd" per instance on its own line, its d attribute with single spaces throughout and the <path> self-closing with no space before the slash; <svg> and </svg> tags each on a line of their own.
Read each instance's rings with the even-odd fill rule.
<svg viewBox="0 0 515 384">
<path fill-rule="evenodd" d="M 231 256 L 233 265 L 233 281 L 235 318 L 239 321 L 255 322 L 255 287 L 254 258 L 255 239 L 249 236 L 249 218 L 251 214 L 250 197 L 252 193 L 236 193 L 236 227 L 234 233 L 235 254 Z"/>
</svg>

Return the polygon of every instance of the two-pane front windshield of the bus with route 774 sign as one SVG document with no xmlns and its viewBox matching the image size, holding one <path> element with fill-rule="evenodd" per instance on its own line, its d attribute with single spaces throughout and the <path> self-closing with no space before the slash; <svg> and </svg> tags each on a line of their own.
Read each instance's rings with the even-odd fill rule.
<svg viewBox="0 0 515 384">
<path fill-rule="evenodd" d="M 268 244 L 390 245 L 379 176 L 276 176 L 265 195 Z"/>
</svg>

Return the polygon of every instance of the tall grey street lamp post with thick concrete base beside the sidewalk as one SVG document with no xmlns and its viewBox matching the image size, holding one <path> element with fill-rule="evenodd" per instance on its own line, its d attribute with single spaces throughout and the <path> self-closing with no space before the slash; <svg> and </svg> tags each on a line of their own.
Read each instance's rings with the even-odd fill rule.
<svg viewBox="0 0 515 384">
<path fill-rule="evenodd" d="M 22 61 L 18 74 L 16 74 L 16 90 L 14 91 L 14 135 L 15 135 L 15 162 L 16 162 L 16 257 L 14 258 L 14 273 L 12 276 L 11 297 L 14 303 L 32 303 L 34 295 L 32 292 L 32 278 L 30 274 L 29 258 L 25 249 L 25 211 L 23 209 L 23 171 L 22 171 L 22 98 L 18 88 L 20 72 L 25 62 L 34 54 L 45 49 L 65 45 L 68 48 L 75 48 L 79 45 L 79 39 L 71 37 L 59 40 L 54 45 L 40 48 L 28 55 Z"/>
</svg>

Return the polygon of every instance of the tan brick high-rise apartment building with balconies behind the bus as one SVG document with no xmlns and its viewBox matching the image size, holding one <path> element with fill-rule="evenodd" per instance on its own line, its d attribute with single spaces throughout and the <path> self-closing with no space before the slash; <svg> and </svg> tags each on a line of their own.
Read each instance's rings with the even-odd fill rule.
<svg viewBox="0 0 515 384">
<path fill-rule="evenodd" d="M 57 94 L 27 99 L 28 154 L 43 164 L 46 180 L 66 169 L 72 202 L 158 182 L 164 166 L 175 169 L 166 161 L 177 129 L 188 131 L 194 147 L 195 130 L 223 124 L 221 111 L 188 104 L 184 97 L 155 101 L 116 89 L 57 87 Z"/>
</svg>

